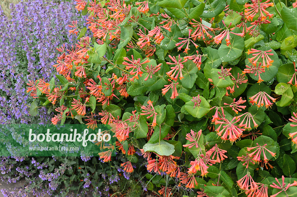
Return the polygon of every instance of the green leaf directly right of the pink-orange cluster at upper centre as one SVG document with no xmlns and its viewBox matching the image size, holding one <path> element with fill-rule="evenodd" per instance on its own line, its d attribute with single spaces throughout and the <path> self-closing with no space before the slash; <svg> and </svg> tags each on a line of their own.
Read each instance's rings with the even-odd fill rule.
<svg viewBox="0 0 297 197">
<path fill-rule="evenodd" d="M 195 84 L 198 68 L 192 60 L 184 62 L 184 68 L 181 73 L 183 74 L 183 79 L 181 80 L 181 85 L 185 88 L 192 88 Z"/>
</svg>

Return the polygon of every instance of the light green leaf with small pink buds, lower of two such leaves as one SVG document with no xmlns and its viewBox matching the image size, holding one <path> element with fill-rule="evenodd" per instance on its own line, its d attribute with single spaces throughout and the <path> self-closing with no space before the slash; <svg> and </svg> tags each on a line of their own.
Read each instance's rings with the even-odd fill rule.
<svg viewBox="0 0 297 197">
<path fill-rule="evenodd" d="M 193 117 L 196 117 L 196 118 L 202 118 L 210 110 L 209 104 L 206 101 L 206 99 L 203 98 L 202 96 L 200 96 L 199 98 L 201 99 L 199 107 L 196 106 L 194 108 L 194 102 L 193 101 L 188 101 L 185 104 L 185 109 L 187 110 L 187 112 L 189 112 Z"/>
</svg>

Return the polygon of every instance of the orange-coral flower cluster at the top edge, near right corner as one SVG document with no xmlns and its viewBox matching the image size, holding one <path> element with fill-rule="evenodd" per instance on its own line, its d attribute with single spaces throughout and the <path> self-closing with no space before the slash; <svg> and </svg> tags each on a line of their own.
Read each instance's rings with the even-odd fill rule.
<svg viewBox="0 0 297 197">
<path fill-rule="evenodd" d="M 265 20 L 268 16 L 271 18 L 273 14 L 269 14 L 268 11 L 266 11 L 266 8 L 269 6 L 274 6 L 273 3 L 268 3 L 270 0 L 267 0 L 262 3 L 262 0 L 252 0 L 252 4 L 245 3 L 244 7 L 246 8 L 244 10 L 244 15 L 246 16 L 248 21 L 252 21 L 254 16 L 259 13 L 261 20 Z M 250 7 L 250 8 L 248 8 Z M 248 9 L 247 9 L 248 8 Z M 265 15 L 264 15 L 265 14 Z"/>
</svg>

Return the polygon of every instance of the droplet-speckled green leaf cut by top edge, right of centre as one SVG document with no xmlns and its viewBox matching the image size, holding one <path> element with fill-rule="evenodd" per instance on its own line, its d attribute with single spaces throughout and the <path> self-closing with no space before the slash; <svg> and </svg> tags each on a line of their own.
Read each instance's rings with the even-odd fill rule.
<svg viewBox="0 0 297 197">
<path fill-rule="evenodd" d="M 202 18 L 213 18 L 219 15 L 226 7 L 226 1 L 213 1 L 210 5 L 205 5 L 205 9 L 201 15 Z"/>
</svg>

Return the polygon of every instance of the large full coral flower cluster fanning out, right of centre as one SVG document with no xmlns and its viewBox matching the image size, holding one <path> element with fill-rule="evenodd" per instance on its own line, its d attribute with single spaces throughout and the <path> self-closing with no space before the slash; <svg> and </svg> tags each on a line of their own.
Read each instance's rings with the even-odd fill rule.
<svg viewBox="0 0 297 197">
<path fill-rule="evenodd" d="M 236 121 L 235 119 L 236 117 L 234 117 L 231 121 L 229 121 L 226 118 L 224 118 L 223 121 L 216 122 L 220 124 L 220 126 L 216 129 L 216 131 L 219 136 L 222 136 L 221 137 L 222 140 L 230 140 L 231 142 L 234 142 L 242 135 L 242 132 L 245 129 L 241 129 L 239 128 L 239 126 L 236 126 L 235 123 L 240 121 L 240 118 Z M 221 129 L 222 125 L 223 125 L 223 128 Z M 229 138 L 228 138 L 228 135 L 229 135 Z"/>
</svg>

